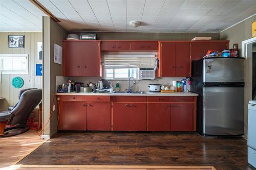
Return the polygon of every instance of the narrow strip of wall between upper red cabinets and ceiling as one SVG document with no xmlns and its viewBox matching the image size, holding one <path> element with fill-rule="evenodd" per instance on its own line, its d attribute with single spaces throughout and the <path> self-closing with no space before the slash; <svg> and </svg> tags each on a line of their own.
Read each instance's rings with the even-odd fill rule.
<svg viewBox="0 0 256 170">
<path fill-rule="evenodd" d="M 70 32 L 77 33 L 79 32 Z M 99 40 L 191 40 L 194 37 L 212 37 L 220 40 L 220 33 L 111 33 L 97 32 Z"/>
</svg>

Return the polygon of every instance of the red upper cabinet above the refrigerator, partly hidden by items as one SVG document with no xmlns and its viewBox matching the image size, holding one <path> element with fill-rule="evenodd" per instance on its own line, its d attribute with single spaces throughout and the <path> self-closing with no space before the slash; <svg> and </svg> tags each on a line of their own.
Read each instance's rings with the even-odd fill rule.
<svg viewBox="0 0 256 170">
<path fill-rule="evenodd" d="M 229 41 L 193 41 L 190 42 L 191 60 L 199 60 L 203 58 L 208 50 L 217 50 L 222 52 L 229 48 Z"/>
</svg>

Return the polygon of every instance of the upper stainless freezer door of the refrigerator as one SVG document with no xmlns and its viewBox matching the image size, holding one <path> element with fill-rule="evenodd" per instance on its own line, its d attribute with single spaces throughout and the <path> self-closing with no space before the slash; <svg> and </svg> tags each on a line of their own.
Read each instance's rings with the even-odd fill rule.
<svg viewBox="0 0 256 170">
<path fill-rule="evenodd" d="M 244 82 L 243 58 L 206 58 L 203 82 Z"/>
</svg>

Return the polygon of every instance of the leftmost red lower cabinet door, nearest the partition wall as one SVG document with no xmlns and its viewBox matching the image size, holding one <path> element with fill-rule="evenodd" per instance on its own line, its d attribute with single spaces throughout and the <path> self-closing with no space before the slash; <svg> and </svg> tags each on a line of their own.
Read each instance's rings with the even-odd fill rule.
<svg viewBox="0 0 256 170">
<path fill-rule="evenodd" d="M 62 102 L 62 130 L 87 129 L 87 106 L 85 102 Z"/>
</svg>

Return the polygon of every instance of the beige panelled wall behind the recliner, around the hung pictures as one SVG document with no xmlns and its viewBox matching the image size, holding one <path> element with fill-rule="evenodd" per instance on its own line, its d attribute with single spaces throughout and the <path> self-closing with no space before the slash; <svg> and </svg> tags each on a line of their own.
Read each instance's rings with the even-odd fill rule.
<svg viewBox="0 0 256 170">
<path fill-rule="evenodd" d="M 8 35 L 25 35 L 25 48 L 9 48 Z M 28 54 L 29 74 L 28 75 L 2 75 L 0 82 L 0 97 L 5 100 L 0 101 L 0 110 L 8 109 L 18 100 L 18 93 L 25 88 L 42 88 L 42 77 L 35 76 L 35 64 L 41 64 L 42 60 L 37 60 L 37 42 L 42 41 L 41 32 L 0 32 L 0 54 Z M 14 88 L 11 81 L 14 77 L 21 77 L 24 80 L 22 88 Z"/>
</svg>

